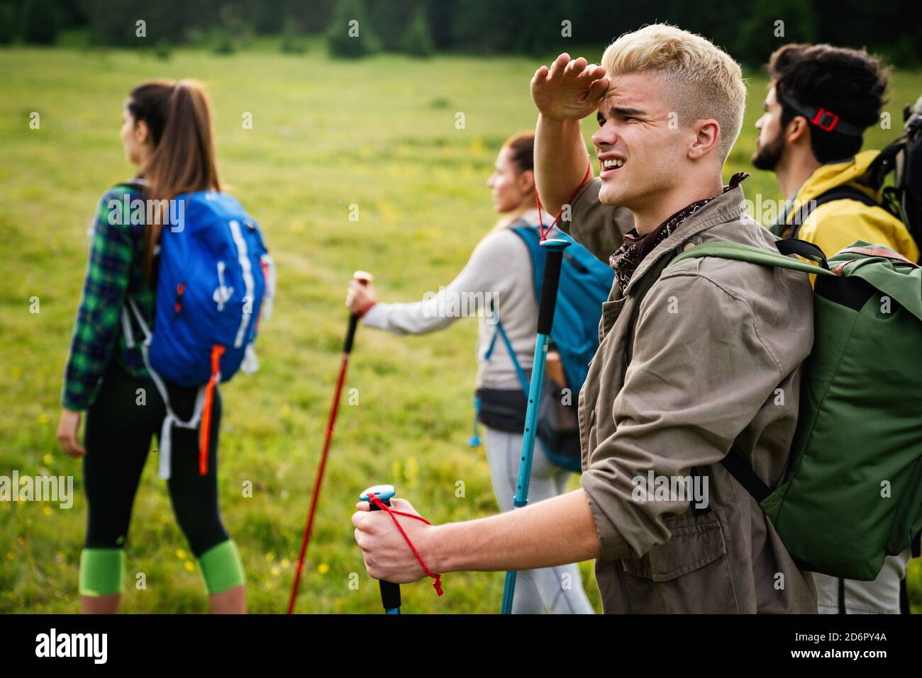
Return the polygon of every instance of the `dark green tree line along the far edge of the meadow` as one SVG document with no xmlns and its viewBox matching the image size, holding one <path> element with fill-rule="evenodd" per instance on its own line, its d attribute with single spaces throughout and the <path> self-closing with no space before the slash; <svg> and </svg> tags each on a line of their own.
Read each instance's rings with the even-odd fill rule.
<svg viewBox="0 0 922 678">
<path fill-rule="evenodd" d="M 785 42 L 866 47 L 898 66 L 922 64 L 917 0 L 0 0 L 0 43 L 53 44 L 63 30 L 92 46 L 209 40 L 233 51 L 278 35 L 283 51 L 325 35 L 331 53 L 549 54 L 598 45 L 645 23 L 701 33 L 747 65 Z M 144 21 L 144 40 L 136 22 Z"/>
</svg>

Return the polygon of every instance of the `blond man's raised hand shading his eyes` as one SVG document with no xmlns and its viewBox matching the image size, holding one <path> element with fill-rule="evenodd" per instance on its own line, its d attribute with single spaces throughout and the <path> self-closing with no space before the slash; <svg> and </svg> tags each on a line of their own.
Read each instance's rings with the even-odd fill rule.
<svg viewBox="0 0 922 678">
<path fill-rule="evenodd" d="M 582 120 L 598 108 L 609 88 L 605 68 L 562 53 L 550 69 L 541 66 L 531 79 L 531 99 L 541 115 L 554 120 Z"/>
</svg>

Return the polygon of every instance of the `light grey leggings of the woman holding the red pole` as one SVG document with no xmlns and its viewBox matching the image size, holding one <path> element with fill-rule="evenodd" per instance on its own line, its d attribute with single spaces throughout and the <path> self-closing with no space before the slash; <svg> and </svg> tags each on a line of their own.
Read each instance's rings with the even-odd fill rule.
<svg viewBox="0 0 922 678">
<path fill-rule="evenodd" d="M 493 494 L 500 510 L 508 511 L 513 508 L 519 457 L 522 455 L 522 434 L 483 428 Z M 568 471 L 550 462 L 548 455 L 540 449 L 540 442 L 537 442 L 528 485 L 528 503 L 563 494 L 569 477 Z M 593 614 L 575 563 L 518 573 L 513 614 L 541 614 L 545 608 L 551 614 Z"/>
</svg>

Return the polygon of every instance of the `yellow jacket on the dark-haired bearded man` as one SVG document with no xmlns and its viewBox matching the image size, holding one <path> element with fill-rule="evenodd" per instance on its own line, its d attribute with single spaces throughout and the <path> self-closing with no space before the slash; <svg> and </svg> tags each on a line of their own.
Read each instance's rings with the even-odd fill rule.
<svg viewBox="0 0 922 678">
<path fill-rule="evenodd" d="M 845 162 L 817 168 L 794 197 L 793 208 L 787 215 L 786 223 L 789 225 L 793 221 L 802 205 L 846 183 L 880 202 L 881 196 L 861 181 L 877 155 L 878 151 L 863 151 Z M 789 232 L 788 226 L 782 235 L 786 237 Z M 880 207 L 863 205 L 857 200 L 833 200 L 819 205 L 800 227 L 798 238 L 817 245 L 827 257 L 856 240 L 864 240 L 885 245 L 913 262 L 919 258 L 916 243 L 902 221 Z"/>
</svg>

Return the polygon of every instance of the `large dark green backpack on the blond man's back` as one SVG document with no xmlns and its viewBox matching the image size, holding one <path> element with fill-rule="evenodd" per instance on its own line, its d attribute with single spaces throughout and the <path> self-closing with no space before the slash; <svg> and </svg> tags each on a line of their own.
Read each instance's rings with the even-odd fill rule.
<svg viewBox="0 0 922 678">
<path fill-rule="evenodd" d="M 671 261 L 720 257 L 817 275 L 786 479 L 770 489 L 733 450 L 724 466 L 800 567 L 869 581 L 922 529 L 922 268 L 861 240 L 828 263 L 811 243 L 776 244 L 705 242 Z"/>
</svg>

